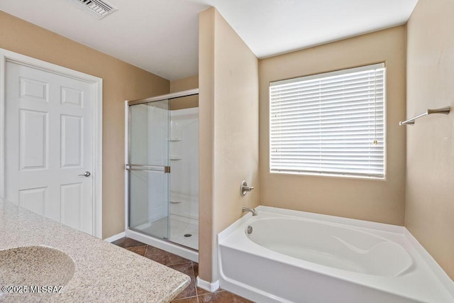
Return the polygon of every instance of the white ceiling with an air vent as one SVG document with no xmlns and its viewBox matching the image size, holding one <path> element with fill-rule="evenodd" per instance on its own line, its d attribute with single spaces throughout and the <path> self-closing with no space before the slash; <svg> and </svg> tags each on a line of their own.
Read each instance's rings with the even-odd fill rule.
<svg viewBox="0 0 454 303">
<path fill-rule="evenodd" d="M 199 11 L 215 6 L 259 58 L 406 23 L 418 0 L 106 0 L 97 20 L 65 0 L 0 9 L 166 79 L 198 73 Z"/>
</svg>

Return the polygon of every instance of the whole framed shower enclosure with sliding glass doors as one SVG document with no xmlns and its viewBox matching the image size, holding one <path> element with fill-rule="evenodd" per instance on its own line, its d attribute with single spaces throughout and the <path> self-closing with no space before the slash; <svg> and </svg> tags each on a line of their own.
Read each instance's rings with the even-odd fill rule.
<svg viewBox="0 0 454 303">
<path fill-rule="evenodd" d="M 126 236 L 196 260 L 198 89 L 128 101 Z"/>
</svg>

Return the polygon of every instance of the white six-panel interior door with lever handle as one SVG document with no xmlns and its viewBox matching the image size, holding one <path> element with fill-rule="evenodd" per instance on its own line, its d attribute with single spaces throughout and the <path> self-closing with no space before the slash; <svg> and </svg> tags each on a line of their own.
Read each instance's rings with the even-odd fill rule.
<svg viewBox="0 0 454 303">
<path fill-rule="evenodd" d="M 94 234 L 92 84 L 6 62 L 5 197 Z"/>
</svg>

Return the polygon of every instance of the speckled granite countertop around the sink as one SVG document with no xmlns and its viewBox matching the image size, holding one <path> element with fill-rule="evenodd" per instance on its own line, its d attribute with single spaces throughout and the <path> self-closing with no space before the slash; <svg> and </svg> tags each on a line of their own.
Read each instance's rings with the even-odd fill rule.
<svg viewBox="0 0 454 303">
<path fill-rule="evenodd" d="M 0 290 L 0 302 L 170 302 L 190 282 L 181 272 L 0 199 L 0 250 L 21 246 L 61 250 L 74 260 L 74 275 L 59 293 Z"/>
</svg>

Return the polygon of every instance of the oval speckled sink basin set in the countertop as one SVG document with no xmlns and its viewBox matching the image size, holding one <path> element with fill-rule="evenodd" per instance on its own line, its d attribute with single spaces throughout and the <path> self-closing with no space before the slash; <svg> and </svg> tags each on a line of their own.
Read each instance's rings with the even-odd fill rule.
<svg viewBox="0 0 454 303">
<path fill-rule="evenodd" d="M 0 285 L 66 285 L 74 275 L 72 258 L 45 246 L 0 250 Z"/>
</svg>

